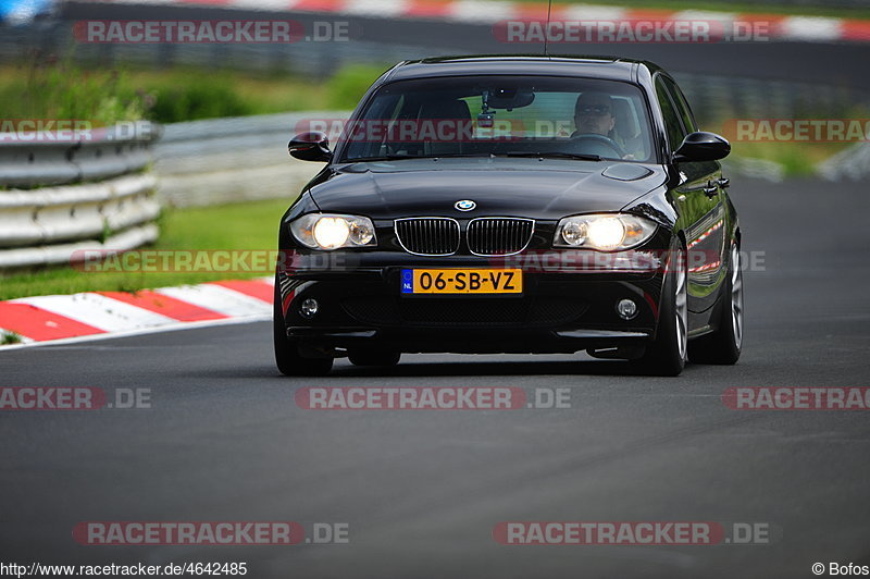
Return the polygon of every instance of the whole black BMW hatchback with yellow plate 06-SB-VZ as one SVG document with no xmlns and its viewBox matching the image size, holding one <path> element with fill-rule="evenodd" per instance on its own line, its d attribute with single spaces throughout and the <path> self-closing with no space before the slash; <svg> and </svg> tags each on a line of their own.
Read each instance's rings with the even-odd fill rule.
<svg viewBox="0 0 870 579">
<path fill-rule="evenodd" d="M 575 353 L 676 375 L 734 364 L 741 229 L 673 78 L 646 61 L 464 57 L 384 73 L 284 214 L 274 342 L 288 375 L 348 356 Z"/>
</svg>

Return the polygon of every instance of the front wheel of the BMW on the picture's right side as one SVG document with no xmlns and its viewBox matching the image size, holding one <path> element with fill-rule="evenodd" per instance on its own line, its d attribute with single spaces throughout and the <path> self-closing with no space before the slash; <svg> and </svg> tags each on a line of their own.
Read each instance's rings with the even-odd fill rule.
<svg viewBox="0 0 870 579">
<path fill-rule="evenodd" d="M 671 251 L 664 270 L 656 340 L 637 360 L 649 375 L 680 375 L 686 365 L 688 341 L 686 252 Z"/>
</svg>

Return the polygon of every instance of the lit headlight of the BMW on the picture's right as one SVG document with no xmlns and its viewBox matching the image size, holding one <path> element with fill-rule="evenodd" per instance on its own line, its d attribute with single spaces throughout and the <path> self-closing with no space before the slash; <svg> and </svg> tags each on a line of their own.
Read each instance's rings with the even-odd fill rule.
<svg viewBox="0 0 870 579">
<path fill-rule="evenodd" d="M 649 239 L 657 225 L 627 213 L 600 213 L 564 218 L 556 227 L 556 247 L 618 251 L 637 247 Z"/>
</svg>

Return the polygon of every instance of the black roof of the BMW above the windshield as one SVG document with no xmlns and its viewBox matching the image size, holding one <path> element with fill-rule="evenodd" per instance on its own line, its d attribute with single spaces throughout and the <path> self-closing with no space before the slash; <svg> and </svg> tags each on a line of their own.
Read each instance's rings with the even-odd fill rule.
<svg viewBox="0 0 870 579">
<path fill-rule="evenodd" d="M 383 81 L 405 81 L 436 76 L 518 74 L 547 76 L 585 76 L 637 84 L 637 69 L 651 75 L 661 69 L 648 61 L 619 57 L 580 57 L 542 54 L 483 54 L 438 57 L 399 63 Z"/>
</svg>

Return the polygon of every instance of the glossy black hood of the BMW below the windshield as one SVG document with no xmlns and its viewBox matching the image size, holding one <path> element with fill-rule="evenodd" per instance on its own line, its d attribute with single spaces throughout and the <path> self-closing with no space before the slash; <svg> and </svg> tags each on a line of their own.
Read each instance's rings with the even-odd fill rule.
<svg viewBox="0 0 870 579">
<path fill-rule="evenodd" d="M 618 211 L 666 181 L 661 167 L 538 159 L 422 159 L 335 165 L 311 184 L 325 212 L 373 219 L 411 215 L 529 217 Z M 472 211 L 453 208 L 458 200 Z"/>
</svg>

